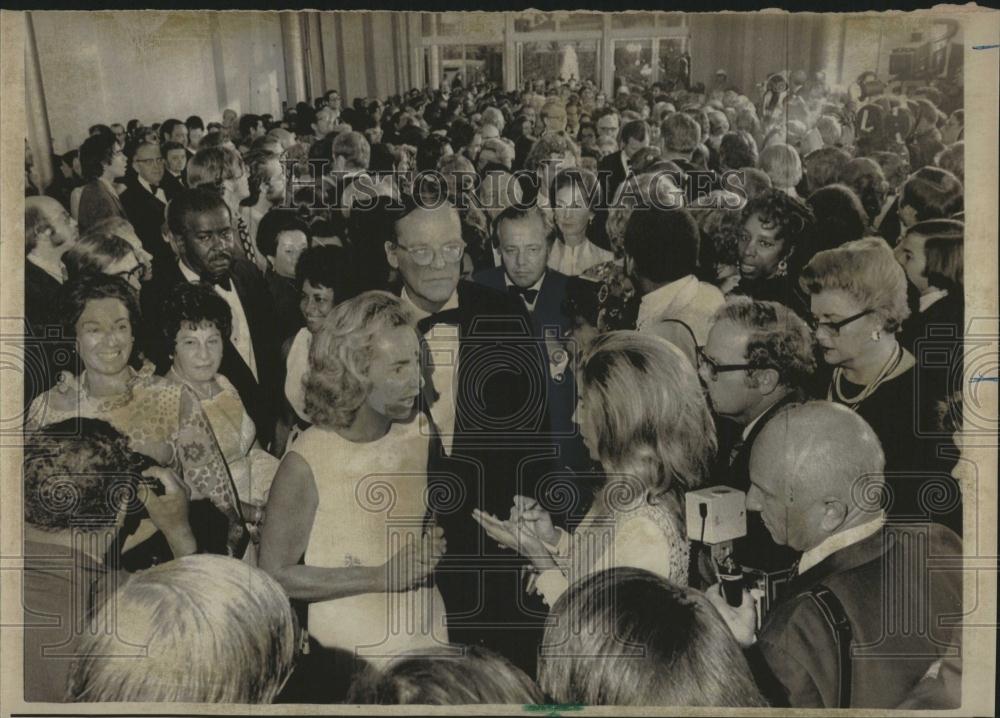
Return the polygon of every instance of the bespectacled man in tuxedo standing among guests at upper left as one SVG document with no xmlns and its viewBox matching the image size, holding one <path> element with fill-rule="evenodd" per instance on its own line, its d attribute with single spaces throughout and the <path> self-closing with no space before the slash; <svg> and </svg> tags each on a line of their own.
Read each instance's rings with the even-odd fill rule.
<svg viewBox="0 0 1000 718">
<path fill-rule="evenodd" d="M 122 192 L 122 206 L 128 221 L 143 248 L 158 263 L 172 263 L 174 255 L 163 241 L 163 220 L 167 209 L 167 193 L 161 183 L 164 176 L 163 155 L 160 146 L 144 142 L 132 156 L 135 176 Z"/>
</svg>

